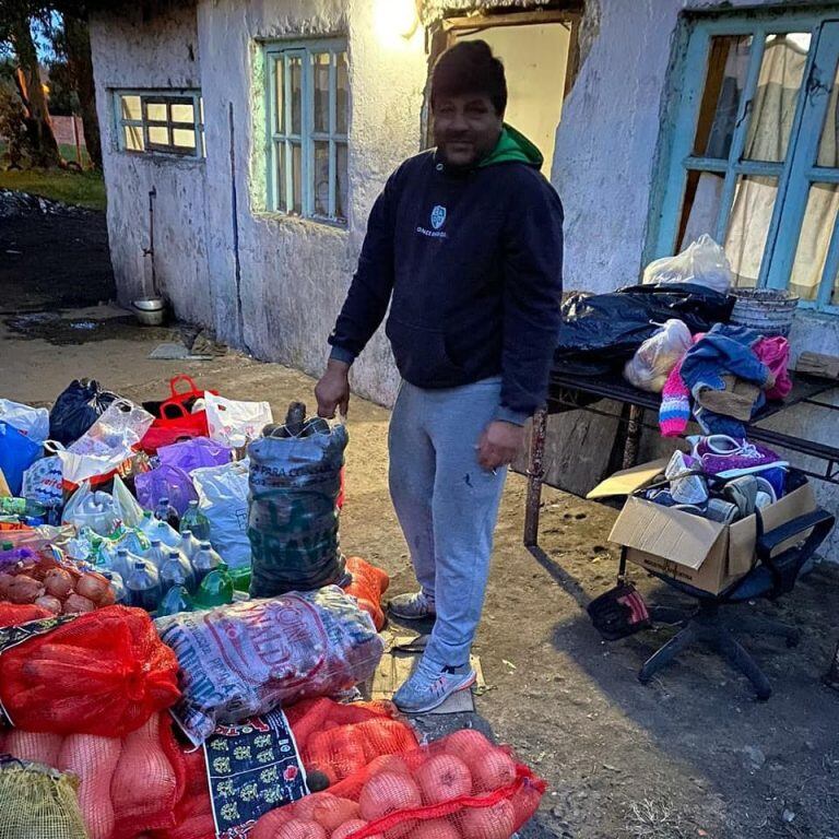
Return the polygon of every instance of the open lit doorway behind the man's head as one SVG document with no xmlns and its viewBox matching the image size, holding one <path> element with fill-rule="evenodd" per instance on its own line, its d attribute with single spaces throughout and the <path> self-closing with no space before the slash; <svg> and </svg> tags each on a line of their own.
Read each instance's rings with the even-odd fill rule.
<svg viewBox="0 0 839 839">
<path fill-rule="evenodd" d="M 448 17 L 432 38 L 430 66 L 460 40 L 483 39 L 507 73 L 505 120 L 542 152 L 542 173 L 551 177 L 563 101 L 574 81 L 580 13 L 556 9 Z M 430 119 L 427 137 L 430 140 Z"/>
</svg>

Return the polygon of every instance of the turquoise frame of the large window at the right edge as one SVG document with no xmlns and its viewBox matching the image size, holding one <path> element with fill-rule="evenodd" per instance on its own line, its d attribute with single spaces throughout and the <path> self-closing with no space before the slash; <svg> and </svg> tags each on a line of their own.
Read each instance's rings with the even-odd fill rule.
<svg viewBox="0 0 839 839">
<path fill-rule="evenodd" d="M 662 120 L 660 180 L 653 192 L 645 263 L 672 256 L 677 247 L 689 170 L 725 175 L 720 214 L 716 231 L 711 232 L 718 241 L 725 237 L 737 176 L 772 177 L 777 178 L 778 191 L 757 284 L 768 288 L 785 288 L 792 273 L 811 185 L 839 184 L 839 168 L 816 165 L 827 106 L 839 64 L 839 4 L 818 11 L 790 11 L 782 14 L 776 11 L 686 16 L 681 27 L 676 39 L 677 55 L 673 62 L 669 107 Z M 781 163 L 741 159 L 766 36 L 789 32 L 810 32 L 811 46 L 800 88 L 803 95 L 797 97 L 787 157 Z M 726 161 L 693 155 L 711 38 L 721 35 L 753 36 L 749 67 Z M 839 304 L 831 303 L 837 275 L 839 216 L 831 233 L 817 299 L 802 302 L 801 306 L 839 314 Z"/>
</svg>

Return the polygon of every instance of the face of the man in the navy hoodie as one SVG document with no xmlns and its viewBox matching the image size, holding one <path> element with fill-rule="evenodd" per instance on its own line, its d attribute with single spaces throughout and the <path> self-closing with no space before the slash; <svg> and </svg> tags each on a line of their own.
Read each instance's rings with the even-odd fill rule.
<svg viewBox="0 0 839 839">
<path fill-rule="evenodd" d="M 434 141 L 450 166 L 472 166 L 495 149 L 501 131 L 486 94 L 440 96 L 434 103 Z"/>
</svg>

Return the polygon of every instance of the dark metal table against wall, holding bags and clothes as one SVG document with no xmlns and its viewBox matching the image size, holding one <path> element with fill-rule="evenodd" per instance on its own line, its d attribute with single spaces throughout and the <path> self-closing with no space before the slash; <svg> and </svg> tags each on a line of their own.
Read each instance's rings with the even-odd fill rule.
<svg viewBox="0 0 839 839">
<path fill-rule="evenodd" d="M 792 379 L 793 389 L 790 395 L 783 402 L 767 403 L 748 425 L 748 437 L 767 446 L 784 448 L 822 461 L 824 463 L 822 471 L 807 469 L 800 471 L 811 477 L 839 486 L 839 446 L 806 440 L 760 425 L 769 417 L 777 416 L 796 405 L 812 405 L 829 412 L 839 411 L 839 404 L 832 404 L 824 399 L 831 390 L 839 389 L 839 381 L 801 374 L 793 374 Z M 616 417 L 600 410 L 598 402 L 604 399 L 629 405 L 628 418 Z M 524 544 L 528 547 L 535 547 L 539 542 L 539 513 L 545 476 L 544 453 L 548 415 L 567 411 L 587 411 L 625 424 L 624 468 L 628 469 L 637 463 L 638 442 L 642 429 L 647 427 L 658 430 L 659 428 L 658 423 L 645 422 L 645 411 L 654 412 L 658 418 L 660 405 L 661 397 L 658 393 L 639 390 L 629 385 L 619 373 L 591 377 L 571 375 L 557 369 L 552 373 L 547 406 L 533 417 L 524 516 Z M 834 415 L 832 418 L 836 416 Z M 837 434 L 837 441 L 839 441 L 839 434 Z"/>
</svg>

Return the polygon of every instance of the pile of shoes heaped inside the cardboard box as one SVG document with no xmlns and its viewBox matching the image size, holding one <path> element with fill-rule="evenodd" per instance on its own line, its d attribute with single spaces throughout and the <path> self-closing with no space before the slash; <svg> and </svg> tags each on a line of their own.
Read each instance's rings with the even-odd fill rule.
<svg viewBox="0 0 839 839">
<path fill-rule="evenodd" d="M 687 439 L 690 452 L 674 452 L 647 500 L 730 524 L 785 495 L 790 464 L 771 449 L 726 435 Z"/>
</svg>

